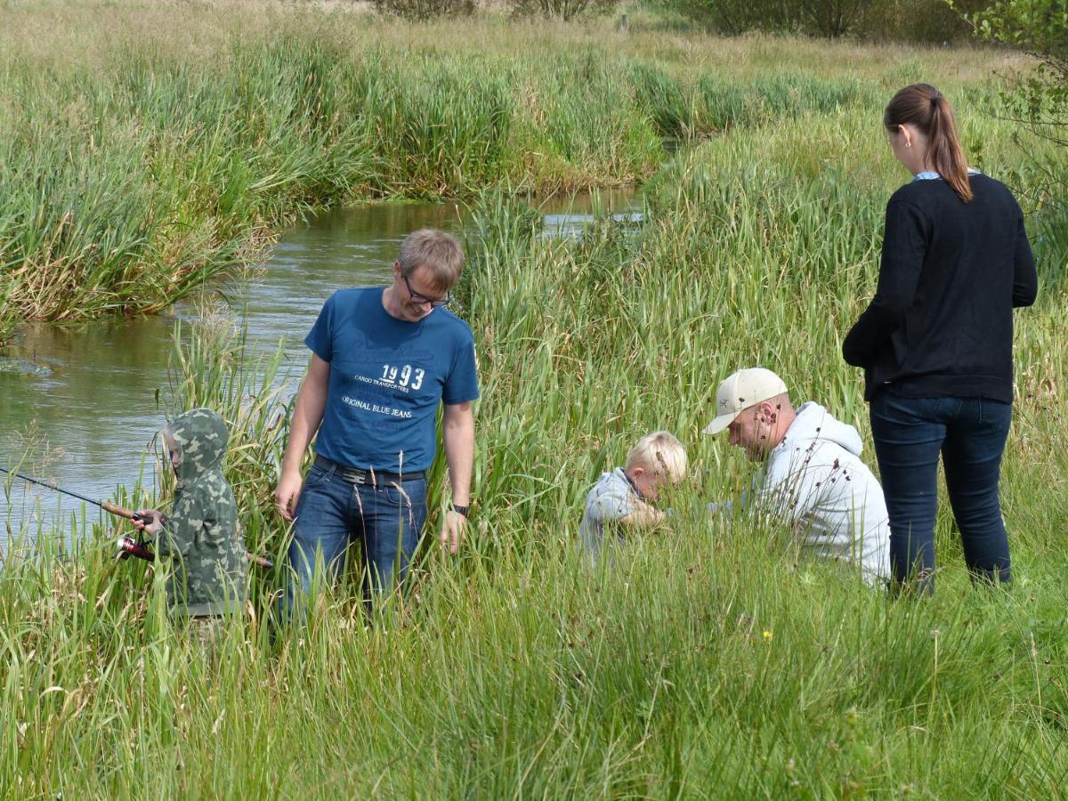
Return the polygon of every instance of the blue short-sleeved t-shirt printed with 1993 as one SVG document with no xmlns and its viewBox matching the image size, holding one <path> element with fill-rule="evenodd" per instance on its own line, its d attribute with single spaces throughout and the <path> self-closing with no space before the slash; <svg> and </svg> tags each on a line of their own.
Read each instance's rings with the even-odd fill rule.
<svg viewBox="0 0 1068 801">
<path fill-rule="evenodd" d="M 315 450 L 347 467 L 415 473 L 434 462 L 438 405 L 478 397 L 474 337 L 444 308 L 396 319 L 382 292 L 334 293 L 304 339 L 330 362 Z"/>
</svg>

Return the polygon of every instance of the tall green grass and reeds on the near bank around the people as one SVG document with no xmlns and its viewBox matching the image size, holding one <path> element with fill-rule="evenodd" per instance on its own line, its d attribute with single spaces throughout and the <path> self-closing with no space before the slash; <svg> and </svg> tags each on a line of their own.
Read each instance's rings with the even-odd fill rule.
<svg viewBox="0 0 1068 801">
<path fill-rule="evenodd" d="M 433 49 L 434 29 L 412 36 Z M 738 366 L 775 368 L 796 400 L 818 399 L 866 436 L 860 376 L 838 350 L 874 292 L 882 207 L 902 175 L 879 128 L 883 79 L 830 66 L 819 80 L 789 77 L 811 75 L 808 47 L 798 44 L 789 61 L 785 45 L 752 45 L 789 68 L 774 79 L 742 76 L 759 91 L 741 92 L 740 100 L 728 78 L 717 83 L 696 73 L 676 84 L 686 90 L 664 92 L 658 87 L 673 73 L 662 64 L 630 65 L 631 85 L 644 87 L 632 95 L 598 84 L 608 97 L 646 104 L 646 142 L 697 130 L 713 106 L 737 110 L 717 117 L 728 120 L 722 128 L 709 127 L 720 135 L 651 172 L 641 220 L 604 217 L 579 238 L 551 239 L 536 208 L 514 193 L 477 193 L 458 292 L 483 383 L 471 536 L 456 559 L 430 537 L 410 601 L 384 603 L 374 625 L 357 582 L 347 581 L 318 598 L 307 626 L 274 629 L 281 575 L 257 574 L 249 622 L 234 627 L 213 666 L 167 622 L 159 572 L 110 561 L 117 532 L 110 521 L 80 520 L 69 550 L 6 554 L 0 795 L 1062 794 L 1068 233 L 1031 158 L 1052 154 L 1038 144 L 1022 153 L 1014 126 L 986 113 L 992 90 L 976 90 L 965 75 L 977 67 L 954 66 L 965 57 L 932 51 L 929 63 L 906 64 L 892 78 L 916 69 L 969 98 L 958 103 L 965 146 L 1020 193 L 1035 239 L 1042 290 L 1017 317 L 1017 415 L 1003 480 L 1015 584 L 971 587 L 944 503 L 938 592 L 918 603 L 891 602 L 806 560 L 784 532 L 703 512 L 740 489 L 749 470 L 725 442 L 698 434 L 719 380 Z M 567 58 L 581 64 L 585 57 Z M 386 57 L 381 63 L 387 72 L 408 68 L 390 67 Z M 423 67 L 440 77 L 456 63 L 442 73 L 429 61 Z M 541 68 L 545 77 L 555 67 Z M 596 77 L 595 63 L 586 68 Z M 458 87 L 470 78 L 447 74 Z M 256 73 L 241 75 L 254 80 Z M 487 94 L 486 109 L 515 88 L 512 78 L 493 80 L 501 91 Z M 197 85 L 188 91 L 211 103 Z M 167 113 L 195 113 L 188 96 L 171 95 Z M 648 109 L 659 96 L 674 105 L 670 113 L 669 104 L 657 106 L 657 117 Z M 296 100 L 284 112 L 256 113 L 295 108 Z M 485 134 L 498 130 L 493 120 L 487 111 L 465 124 Z M 549 136 L 549 128 L 512 117 L 500 130 L 511 141 L 517 131 Z M 343 129 L 319 131 L 342 146 Z M 194 124 L 188 130 L 213 136 Z M 609 162 L 630 153 L 618 144 L 625 132 L 604 135 L 616 155 L 596 152 Z M 452 146 L 441 130 L 418 136 Z M 236 140 L 226 141 L 220 152 Z M 496 140 L 485 134 L 480 141 Z M 247 158 L 235 160 L 251 169 L 251 152 L 239 152 Z M 380 177 L 388 162 L 381 150 L 368 174 Z M 198 163 L 204 174 L 218 167 Z M 478 176 L 472 185 L 488 175 L 469 174 Z M 195 188 L 173 183 L 175 191 Z M 264 197 L 281 214 L 283 195 L 311 202 L 298 186 L 305 185 L 271 187 L 277 193 Z M 235 200 L 241 197 L 249 195 Z M 272 389 L 277 359 L 251 360 L 240 332 L 211 319 L 176 331 L 162 403 L 208 405 L 230 422 L 226 470 L 246 538 L 277 557 L 285 531 L 270 496 L 288 393 Z M 672 524 L 590 569 L 575 551 L 585 490 L 638 436 L 663 427 L 687 443 L 693 465 L 668 500 Z M 437 505 L 440 466 L 433 483 Z"/>
</svg>

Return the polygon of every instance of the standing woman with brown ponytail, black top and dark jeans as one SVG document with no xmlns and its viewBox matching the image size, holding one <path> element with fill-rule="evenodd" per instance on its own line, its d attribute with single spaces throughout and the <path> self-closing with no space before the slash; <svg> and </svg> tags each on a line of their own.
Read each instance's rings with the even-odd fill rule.
<svg viewBox="0 0 1068 801">
<path fill-rule="evenodd" d="M 876 295 L 843 354 L 864 367 L 895 584 L 933 590 L 940 454 L 973 580 L 1005 583 L 1012 309 L 1038 289 L 1023 215 L 1003 184 L 968 168 L 933 87 L 894 95 L 883 125 L 913 178 L 886 204 Z"/>
</svg>

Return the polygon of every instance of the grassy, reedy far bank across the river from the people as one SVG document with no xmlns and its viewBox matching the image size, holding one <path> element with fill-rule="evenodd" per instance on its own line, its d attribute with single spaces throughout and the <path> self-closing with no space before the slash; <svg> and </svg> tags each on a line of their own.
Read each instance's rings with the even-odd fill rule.
<svg viewBox="0 0 1068 801">
<path fill-rule="evenodd" d="M 166 308 L 309 208 L 631 184 L 665 138 L 878 103 L 921 64 L 968 85 L 1011 61 L 607 21 L 4 6 L 0 341 Z"/>
</svg>

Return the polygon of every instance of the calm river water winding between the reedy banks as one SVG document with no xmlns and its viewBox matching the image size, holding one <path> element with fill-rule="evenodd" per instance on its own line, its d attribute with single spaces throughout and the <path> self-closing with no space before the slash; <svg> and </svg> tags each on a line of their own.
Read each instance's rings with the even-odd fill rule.
<svg viewBox="0 0 1068 801">
<path fill-rule="evenodd" d="M 594 211 L 627 213 L 634 204 L 631 192 L 553 199 L 541 204 L 544 229 L 547 235 L 575 235 Z M 388 283 L 409 232 L 431 226 L 462 235 L 467 223 L 454 204 L 339 209 L 286 231 L 254 280 L 215 288 L 239 298 L 232 302 L 253 347 L 272 352 L 284 343 L 282 372 L 292 396 L 308 364 L 303 337 L 331 293 Z M 169 386 L 172 333 L 176 320 L 201 325 L 200 309 L 183 301 L 143 319 L 21 328 L 0 357 L 0 467 L 93 499 L 115 499 L 119 488 L 139 484 L 151 489 L 153 440 L 163 424 L 157 394 Z M 0 548 L 20 534 L 66 540 L 98 518 L 82 501 L 22 481 L 0 475 Z"/>
</svg>

